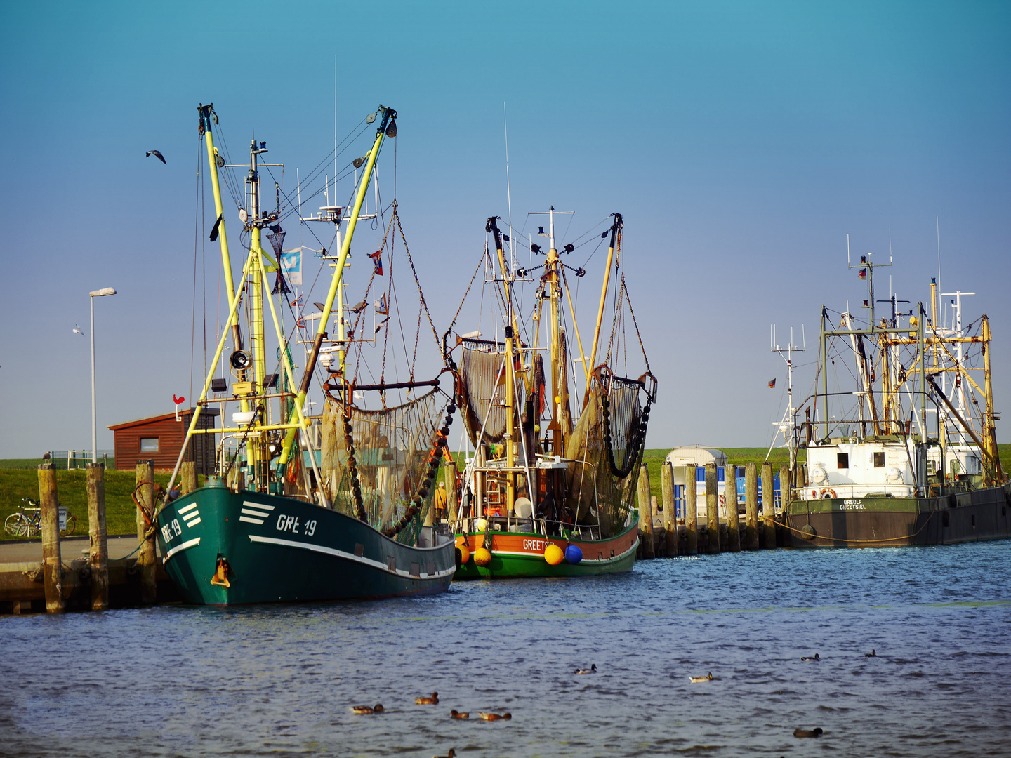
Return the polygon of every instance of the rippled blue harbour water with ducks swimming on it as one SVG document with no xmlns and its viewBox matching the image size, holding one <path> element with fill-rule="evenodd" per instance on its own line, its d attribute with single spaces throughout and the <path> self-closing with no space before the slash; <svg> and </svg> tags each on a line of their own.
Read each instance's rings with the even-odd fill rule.
<svg viewBox="0 0 1011 758">
<path fill-rule="evenodd" d="M 1009 559 L 1008 541 L 779 550 L 381 602 L 7 617 L 0 754 L 1007 756 Z"/>
</svg>

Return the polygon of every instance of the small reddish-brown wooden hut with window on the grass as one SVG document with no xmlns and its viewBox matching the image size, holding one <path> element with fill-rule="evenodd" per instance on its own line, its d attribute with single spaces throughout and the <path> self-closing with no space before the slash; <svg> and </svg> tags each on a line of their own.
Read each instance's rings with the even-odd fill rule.
<svg viewBox="0 0 1011 758">
<path fill-rule="evenodd" d="M 220 414 L 217 408 L 204 408 L 197 418 L 197 429 L 213 429 Z M 136 418 L 109 427 L 115 435 L 116 468 L 132 470 L 137 461 L 152 460 L 156 469 L 171 469 L 176 465 L 193 417 L 193 408 L 176 413 L 163 413 Z M 184 461 L 196 464 L 197 474 L 214 473 L 215 436 L 193 435 Z"/>
</svg>

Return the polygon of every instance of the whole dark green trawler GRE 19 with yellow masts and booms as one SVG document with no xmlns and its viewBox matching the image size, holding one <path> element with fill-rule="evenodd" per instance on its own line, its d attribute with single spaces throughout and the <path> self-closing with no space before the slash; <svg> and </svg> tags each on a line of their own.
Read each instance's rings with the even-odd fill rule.
<svg viewBox="0 0 1011 758">
<path fill-rule="evenodd" d="M 456 570 L 453 541 L 425 527 L 424 519 L 455 409 L 452 386 L 444 391 L 438 377 L 392 381 L 385 370 L 378 380 L 359 380 L 358 367 L 367 365 L 364 351 L 379 351 L 385 367 L 388 346 L 379 333 L 386 326 L 388 334 L 390 309 L 397 307 L 387 306 L 386 297 L 381 306 L 367 305 L 383 259 L 392 266 L 395 233 L 402 235 L 395 200 L 386 238 L 367 261 L 372 276 L 366 276 L 368 283 L 361 282 L 365 301 L 345 304 L 345 290 L 351 286 L 352 238 L 360 218 L 376 217 L 362 214 L 362 204 L 370 180 L 377 176 L 380 149 L 386 138 L 396 135 L 395 111 L 379 106 L 357 127 L 358 135 L 363 135 L 368 124 L 377 123 L 367 154 L 349 161 L 343 170 L 349 181 L 351 177 L 355 181 L 349 206 L 333 200 L 339 179 L 335 176 L 333 186 L 327 179 L 327 204 L 320 212 L 301 219 L 332 224 L 336 241 L 332 249 L 339 251 L 336 256 L 326 248 L 318 251 L 321 272 L 332 266 L 333 274 L 318 313 L 306 314 L 297 300 L 288 302 L 281 263 L 286 251 L 280 224 L 296 208 L 301 218 L 301 201 L 297 206 L 290 200 L 282 203 L 275 184 L 277 206 L 265 208 L 261 173 L 278 166 L 263 162 L 266 143 L 252 143 L 248 164 L 228 165 L 226 152 L 214 144 L 219 127 L 213 106 L 201 105 L 198 110 L 217 211 L 210 239 L 220 245 L 228 316 L 172 474 L 169 497 L 155 514 L 166 572 L 183 599 L 193 603 L 333 600 L 445 590 Z M 335 148 L 335 163 L 337 155 Z M 219 171 L 239 206 L 241 241 L 247 248 L 235 281 Z M 239 189 L 243 175 L 245 192 Z M 381 210 L 377 208 L 376 214 Z M 264 234 L 268 230 L 271 233 Z M 262 234 L 270 240 L 273 256 L 262 247 Z M 276 274 L 273 291 L 267 283 L 270 273 Z M 296 305 L 297 326 L 289 334 L 282 326 L 283 313 Z M 381 314 L 382 308 L 387 320 L 366 326 L 365 314 Z M 275 327 L 276 342 L 270 350 L 267 311 Z M 427 310 L 415 312 L 422 319 Z M 332 316 L 336 334 L 328 331 Z M 315 334 L 309 337 L 305 324 L 312 323 Z M 229 343 L 231 352 L 222 361 Z M 298 343 L 305 346 L 305 363 L 296 381 L 292 354 L 298 352 Z M 275 352 L 276 363 L 271 355 Z M 440 351 L 434 352 L 441 360 Z M 314 378 L 327 380 L 326 407 L 316 417 L 310 416 L 306 404 Z M 212 405 L 235 408 L 221 414 L 231 418 L 231 427 L 200 428 L 200 413 Z M 238 445 L 226 448 L 222 442 L 218 475 L 179 496 L 173 484 L 186 445 L 206 433 L 222 435 Z"/>
</svg>

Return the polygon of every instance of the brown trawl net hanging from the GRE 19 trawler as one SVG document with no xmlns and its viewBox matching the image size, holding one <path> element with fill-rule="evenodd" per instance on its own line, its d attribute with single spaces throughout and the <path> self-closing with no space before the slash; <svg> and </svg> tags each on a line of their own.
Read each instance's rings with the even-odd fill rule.
<svg viewBox="0 0 1011 758">
<path fill-rule="evenodd" d="M 433 389 L 413 400 L 382 410 L 351 407 L 354 470 L 369 526 L 390 529 L 419 494 L 429 454 L 449 399 Z M 335 510 L 358 517 L 352 467 L 345 436 L 344 405 L 328 398 L 323 416 L 320 476 Z M 424 496 L 416 524 L 424 523 L 433 492 Z M 400 542 L 417 541 L 418 530 L 404 529 Z"/>
</svg>

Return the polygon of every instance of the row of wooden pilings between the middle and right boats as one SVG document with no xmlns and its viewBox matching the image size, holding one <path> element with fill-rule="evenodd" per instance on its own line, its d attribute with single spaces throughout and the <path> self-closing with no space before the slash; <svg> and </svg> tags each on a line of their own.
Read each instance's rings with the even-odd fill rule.
<svg viewBox="0 0 1011 758">
<path fill-rule="evenodd" d="M 776 518 L 772 466 L 755 463 L 744 467 L 744 520 L 737 512 L 736 469 L 727 464 L 724 481 L 726 517 L 720 518 L 720 496 L 716 464 L 706 464 L 706 519 L 699 523 L 696 465 L 684 466 L 683 516 L 678 518 L 674 504 L 674 473 L 664 461 L 660 468 L 660 500 L 650 495 L 649 472 L 646 464 L 639 471 L 639 555 L 640 559 L 672 558 L 678 555 L 706 555 L 741 550 L 776 547 Z M 758 477 L 761 476 L 762 498 L 758 498 Z M 790 467 L 779 468 L 779 486 L 789 493 Z M 789 497 L 789 494 L 787 495 Z M 713 536 L 717 535 L 717 539 Z"/>
</svg>

